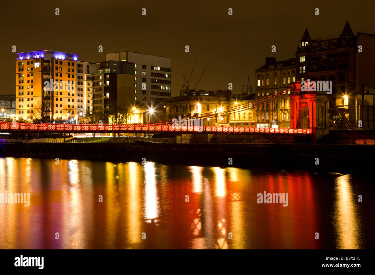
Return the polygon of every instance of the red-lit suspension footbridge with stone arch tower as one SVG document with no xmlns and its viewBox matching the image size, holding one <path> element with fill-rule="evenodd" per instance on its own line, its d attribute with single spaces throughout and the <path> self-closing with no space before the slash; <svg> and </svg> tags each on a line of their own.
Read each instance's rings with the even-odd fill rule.
<svg viewBox="0 0 375 275">
<path fill-rule="evenodd" d="M 195 116 L 194 119 L 205 120 L 213 117 L 228 116 L 248 109 L 258 112 L 266 119 L 262 124 L 273 125 L 274 120 L 266 112 L 276 106 L 282 98 L 291 98 L 290 125 L 291 128 L 271 127 L 232 127 L 232 126 L 177 126 L 171 121 L 142 123 L 142 124 L 60 124 L 60 123 L 18 123 L 0 121 L 0 132 L 17 133 L 120 133 L 120 134 L 272 134 L 272 135 L 312 135 L 316 129 L 316 94 L 303 94 L 300 83 L 292 83 L 290 89 L 278 92 L 258 100 L 239 104 L 226 110 L 220 109 L 210 113 Z M 293 99 L 293 103 L 292 103 Z M 201 124 L 202 125 L 202 124 Z"/>
</svg>

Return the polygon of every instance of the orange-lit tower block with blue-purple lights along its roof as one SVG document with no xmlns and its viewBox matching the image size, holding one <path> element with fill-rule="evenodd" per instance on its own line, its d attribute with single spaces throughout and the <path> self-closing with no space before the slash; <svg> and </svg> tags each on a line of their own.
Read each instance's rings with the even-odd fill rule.
<svg viewBox="0 0 375 275">
<path fill-rule="evenodd" d="M 75 109 L 77 54 L 41 50 L 16 59 L 16 119 L 62 122 Z"/>
</svg>

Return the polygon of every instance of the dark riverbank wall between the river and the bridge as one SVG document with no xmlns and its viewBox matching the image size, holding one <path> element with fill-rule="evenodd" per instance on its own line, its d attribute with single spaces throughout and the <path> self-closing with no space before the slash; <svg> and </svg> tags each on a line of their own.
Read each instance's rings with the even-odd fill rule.
<svg viewBox="0 0 375 275">
<path fill-rule="evenodd" d="M 353 144 L 0 143 L 2 158 L 140 163 L 145 160 L 195 166 L 361 173 L 369 173 L 375 167 L 374 153 L 375 146 Z"/>
</svg>

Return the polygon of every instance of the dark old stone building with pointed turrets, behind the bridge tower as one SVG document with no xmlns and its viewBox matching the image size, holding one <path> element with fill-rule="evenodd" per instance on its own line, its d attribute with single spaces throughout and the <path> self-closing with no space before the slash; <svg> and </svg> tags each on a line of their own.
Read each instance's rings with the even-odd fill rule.
<svg viewBox="0 0 375 275">
<path fill-rule="evenodd" d="M 306 28 L 300 42 L 296 53 L 297 80 L 332 81 L 329 96 L 354 128 L 362 120 L 364 129 L 374 129 L 375 35 L 354 35 L 346 22 L 341 34 L 334 36 L 312 39 Z M 336 123 L 339 112 L 332 105 L 329 117 Z"/>
</svg>

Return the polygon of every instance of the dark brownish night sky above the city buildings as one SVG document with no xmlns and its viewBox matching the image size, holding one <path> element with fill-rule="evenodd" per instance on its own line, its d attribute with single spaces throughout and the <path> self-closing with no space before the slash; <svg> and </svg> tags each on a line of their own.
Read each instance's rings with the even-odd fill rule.
<svg viewBox="0 0 375 275">
<path fill-rule="evenodd" d="M 375 33 L 373 8 L 358 1 L 3 1 L 1 2 L 0 94 L 15 94 L 17 52 L 50 49 L 80 54 L 90 62 L 106 52 L 138 51 L 172 58 L 172 96 L 183 74 L 196 89 L 240 93 L 246 76 L 255 88 L 255 69 L 266 56 L 294 57 L 307 27 L 311 37 L 340 34 L 348 20 L 353 32 Z M 55 8 L 60 15 L 55 15 Z M 146 8 L 146 15 L 141 9 Z M 320 15 L 314 15 L 315 8 Z M 228 15 L 228 8 L 233 15 Z M 290 44 L 288 56 L 288 44 Z M 103 46 L 103 53 L 98 46 Z M 185 53 L 185 45 L 190 52 Z M 276 53 L 271 46 L 276 45 Z"/>
</svg>

